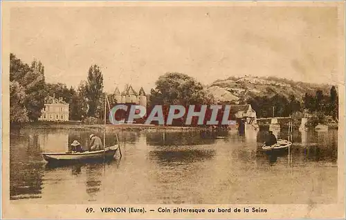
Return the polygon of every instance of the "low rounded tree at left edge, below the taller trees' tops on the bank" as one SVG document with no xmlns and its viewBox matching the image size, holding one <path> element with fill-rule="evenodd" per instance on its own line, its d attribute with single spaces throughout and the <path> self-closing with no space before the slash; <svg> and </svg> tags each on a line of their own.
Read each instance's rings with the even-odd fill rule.
<svg viewBox="0 0 346 220">
<path fill-rule="evenodd" d="M 10 82 L 10 123 L 22 123 L 28 121 L 28 115 L 24 106 L 26 93 L 17 81 Z"/>
</svg>

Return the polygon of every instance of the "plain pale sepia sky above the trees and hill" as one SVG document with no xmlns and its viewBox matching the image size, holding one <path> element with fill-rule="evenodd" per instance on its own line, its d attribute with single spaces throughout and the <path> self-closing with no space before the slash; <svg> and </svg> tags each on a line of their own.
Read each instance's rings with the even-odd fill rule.
<svg viewBox="0 0 346 220">
<path fill-rule="evenodd" d="M 337 83 L 337 22 L 333 7 L 12 8 L 10 51 L 67 86 L 97 64 L 107 92 L 149 91 L 165 72 Z"/>
</svg>

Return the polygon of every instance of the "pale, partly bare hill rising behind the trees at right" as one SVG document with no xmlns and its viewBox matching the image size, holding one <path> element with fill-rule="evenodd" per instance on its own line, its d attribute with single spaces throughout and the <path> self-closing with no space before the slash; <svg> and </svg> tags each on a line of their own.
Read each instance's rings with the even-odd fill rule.
<svg viewBox="0 0 346 220">
<path fill-rule="evenodd" d="M 273 97 L 275 94 L 287 98 L 293 94 L 296 99 L 302 101 L 306 92 L 316 94 L 316 90 L 322 90 L 323 94 L 329 95 L 331 86 L 333 85 L 305 83 L 278 77 L 245 76 L 219 79 L 211 83 L 208 90 L 219 101 L 241 103 L 253 97 Z"/>
</svg>

